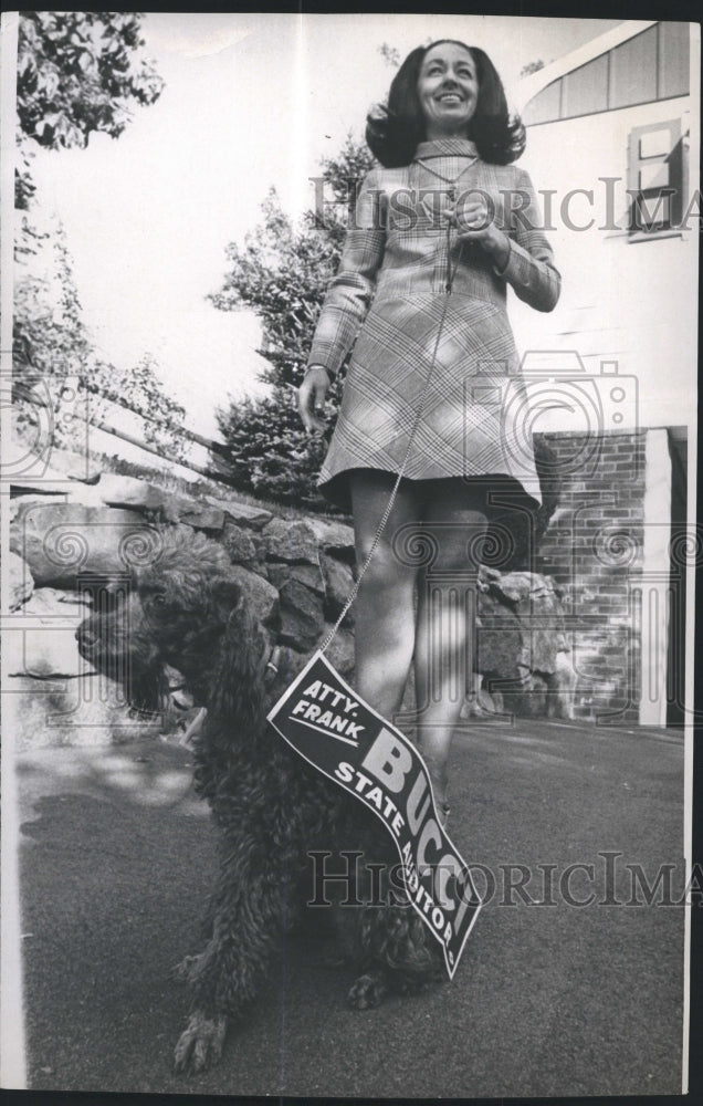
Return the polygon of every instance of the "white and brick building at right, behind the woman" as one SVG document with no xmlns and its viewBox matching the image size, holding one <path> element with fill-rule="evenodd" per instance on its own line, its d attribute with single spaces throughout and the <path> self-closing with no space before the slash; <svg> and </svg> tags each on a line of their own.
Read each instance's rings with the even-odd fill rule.
<svg viewBox="0 0 703 1106">
<path fill-rule="evenodd" d="M 628 21 L 522 85 L 564 279 L 553 314 L 512 312 L 562 484 L 538 567 L 601 722 L 681 724 L 692 695 L 699 72 L 697 24 Z"/>
</svg>

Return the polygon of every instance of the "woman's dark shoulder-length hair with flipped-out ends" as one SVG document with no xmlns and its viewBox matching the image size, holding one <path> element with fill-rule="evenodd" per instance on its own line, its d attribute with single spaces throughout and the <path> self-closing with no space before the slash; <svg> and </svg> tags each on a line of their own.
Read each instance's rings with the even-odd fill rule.
<svg viewBox="0 0 703 1106">
<path fill-rule="evenodd" d="M 418 77 L 427 52 L 444 42 L 463 46 L 476 67 L 479 102 L 466 137 L 476 144 L 483 160 L 507 165 L 518 158 L 525 148 L 525 127 L 520 115 L 511 118 L 503 83 L 489 55 L 478 46 L 468 46 L 457 39 L 439 39 L 408 54 L 390 85 L 388 106 L 377 108 L 367 116 L 366 142 L 387 169 L 409 165 L 418 144 L 424 140 Z"/>
</svg>

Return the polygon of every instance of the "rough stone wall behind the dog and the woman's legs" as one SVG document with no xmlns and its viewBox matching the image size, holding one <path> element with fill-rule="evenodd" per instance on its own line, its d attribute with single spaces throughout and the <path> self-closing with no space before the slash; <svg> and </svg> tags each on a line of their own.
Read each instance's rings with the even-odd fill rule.
<svg viewBox="0 0 703 1106">
<path fill-rule="evenodd" d="M 10 615 L 4 691 L 20 748 L 126 741 L 145 727 L 185 724 L 178 708 L 151 721 L 135 717 L 117 685 L 95 672 L 74 632 L 91 609 L 96 581 L 128 575 L 149 543 L 146 528 L 185 524 L 227 551 L 232 575 L 298 671 L 327 636 L 355 578 L 352 528 L 281 514 L 237 500 L 192 499 L 146 481 L 62 472 L 11 489 Z M 479 667 L 465 713 L 570 713 L 573 685 L 562 609 L 548 577 L 482 568 L 478 583 Z M 354 672 L 353 608 L 327 655 Z M 406 709 L 412 709 L 409 688 Z"/>
</svg>

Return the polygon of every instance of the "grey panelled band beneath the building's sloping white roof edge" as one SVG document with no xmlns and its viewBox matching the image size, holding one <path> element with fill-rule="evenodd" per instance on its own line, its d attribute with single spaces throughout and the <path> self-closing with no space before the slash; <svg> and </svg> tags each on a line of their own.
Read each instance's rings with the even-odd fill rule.
<svg viewBox="0 0 703 1106">
<path fill-rule="evenodd" d="M 689 24 L 653 23 L 553 81 L 523 112 L 527 126 L 689 93 Z"/>
</svg>

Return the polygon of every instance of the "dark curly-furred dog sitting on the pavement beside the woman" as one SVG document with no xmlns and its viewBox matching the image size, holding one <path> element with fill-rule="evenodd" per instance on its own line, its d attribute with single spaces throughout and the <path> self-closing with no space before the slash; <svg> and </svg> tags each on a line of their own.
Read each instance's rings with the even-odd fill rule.
<svg viewBox="0 0 703 1106">
<path fill-rule="evenodd" d="M 135 570 L 136 586 L 115 609 L 91 615 L 76 637 L 103 671 L 130 674 L 138 706 L 158 706 L 171 666 L 207 708 L 193 743 L 195 781 L 220 831 L 220 860 L 207 945 L 178 969 L 190 1018 L 175 1053 L 177 1070 L 200 1071 L 220 1056 L 229 1023 L 254 999 L 311 897 L 308 854 L 358 851 L 390 864 L 397 857 L 373 815 L 267 726 L 287 681 L 282 674 L 273 687 L 264 684 L 269 634 L 224 551 L 187 526 L 156 533 L 158 553 Z M 438 947 L 407 904 L 333 912 L 358 973 L 353 1005 L 377 1005 L 391 988 L 408 992 L 439 978 Z"/>
</svg>

